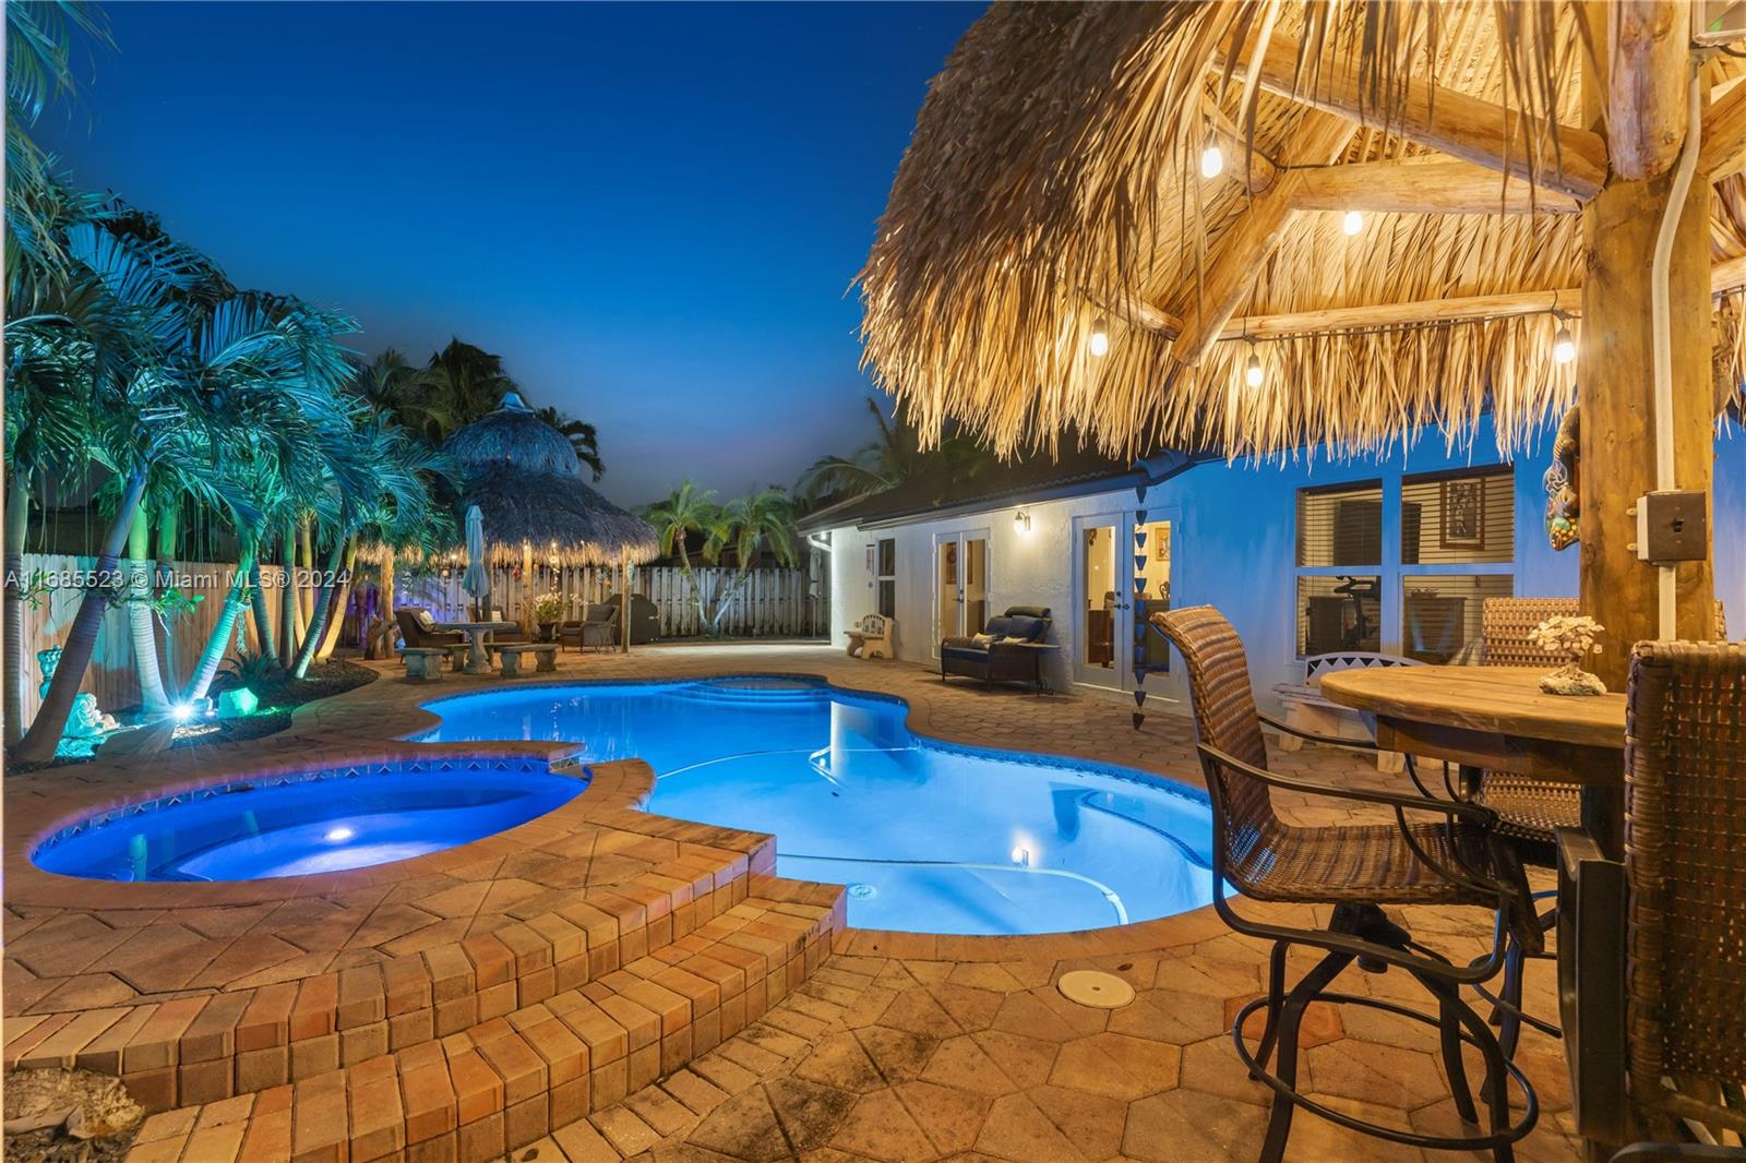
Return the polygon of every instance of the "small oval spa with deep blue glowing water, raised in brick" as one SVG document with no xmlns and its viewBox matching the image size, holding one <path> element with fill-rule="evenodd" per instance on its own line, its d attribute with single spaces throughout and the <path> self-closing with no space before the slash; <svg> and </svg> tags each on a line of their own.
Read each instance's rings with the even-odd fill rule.
<svg viewBox="0 0 1746 1163">
<path fill-rule="evenodd" d="M 403 861 L 569 803 L 543 760 L 440 758 L 237 779 L 87 817 L 31 861 L 98 880 L 269 880 Z"/>
</svg>

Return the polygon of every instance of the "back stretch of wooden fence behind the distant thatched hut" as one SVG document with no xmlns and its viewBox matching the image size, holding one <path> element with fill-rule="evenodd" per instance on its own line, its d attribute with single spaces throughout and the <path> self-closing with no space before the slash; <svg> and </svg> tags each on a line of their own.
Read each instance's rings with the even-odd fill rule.
<svg viewBox="0 0 1746 1163">
<path fill-rule="evenodd" d="M 461 568 L 442 573 L 395 575 L 395 601 L 424 606 L 436 618 L 464 616 L 471 597 L 461 588 Z M 725 594 L 733 583 L 733 569 L 693 569 L 705 595 Z M 491 599 L 506 618 L 520 618 L 533 595 L 557 592 L 564 599 L 564 616 L 580 618 L 581 608 L 602 602 L 618 592 L 618 571 L 611 566 L 576 566 L 552 569 L 536 566 L 529 580 L 508 566 L 492 569 Z M 691 582 L 677 566 L 641 566 L 632 571 L 630 588 L 655 602 L 660 611 L 662 637 L 704 634 Z M 829 630 L 826 585 L 819 564 L 794 569 L 753 569 L 739 592 L 728 599 L 719 632 L 728 637 L 819 637 Z M 714 604 L 711 604 L 714 608 Z"/>
</svg>

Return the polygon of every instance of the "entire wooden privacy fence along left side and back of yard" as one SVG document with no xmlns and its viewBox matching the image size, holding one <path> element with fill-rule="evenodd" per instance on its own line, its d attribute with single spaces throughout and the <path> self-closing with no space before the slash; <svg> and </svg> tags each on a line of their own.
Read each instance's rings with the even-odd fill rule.
<svg viewBox="0 0 1746 1163">
<path fill-rule="evenodd" d="M 152 569 L 154 562 L 140 562 Z M 24 555 L 24 578 L 40 571 L 49 587 L 40 590 L 33 602 L 24 606 L 24 719 L 37 714 L 40 698 L 37 688 L 42 671 L 37 664 L 37 651 L 49 646 L 61 646 L 72 629 L 73 615 L 86 595 L 82 580 L 96 568 L 93 557 Z M 122 561 L 117 569 L 133 569 L 134 562 Z M 227 562 L 175 562 L 178 588 L 189 597 L 203 601 L 190 611 L 166 618 L 159 625 L 161 667 L 164 688 L 180 692 L 194 665 L 199 662 L 206 639 L 218 623 L 223 611 L 225 594 L 230 587 L 234 566 Z M 285 571 L 278 566 L 262 566 L 262 594 L 267 599 L 267 611 L 272 625 L 279 625 L 279 599 L 285 594 Z M 496 569 L 492 578 L 492 601 L 508 618 L 520 616 L 529 594 L 557 590 L 564 595 L 569 613 L 578 616 L 587 602 L 604 601 L 616 590 L 616 571 L 594 566 L 574 569 L 536 568 L 533 585 L 517 576 L 519 569 Z M 698 569 L 695 576 L 707 594 L 725 590 L 732 582 L 732 569 Z M 662 637 L 690 637 L 702 634 L 697 618 L 697 604 L 691 601 L 691 588 L 684 575 L 676 566 L 639 568 L 632 575 L 632 590 L 650 597 L 660 609 Z M 728 602 L 721 618 L 721 634 L 730 637 L 819 637 L 829 629 L 829 609 L 824 599 L 826 587 L 819 575 L 819 564 L 798 569 L 754 569 L 742 590 Z M 459 618 L 466 615 L 468 595 L 461 590 L 461 571 L 416 575 L 402 569 L 395 578 L 395 601 L 402 606 L 426 606 L 438 618 Z M 356 629 L 346 625 L 340 634 L 342 644 L 358 641 Z M 243 650 L 260 650 L 255 641 L 253 618 L 237 618 L 229 653 Z M 98 697 L 103 709 L 131 707 L 140 702 L 140 681 L 133 662 L 133 634 L 127 625 L 127 609 L 110 606 L 103 615 L 103 627 L 98 632 L 96 650 L 91 655 L 91 667 L 80 690 Z"/>
</svg>

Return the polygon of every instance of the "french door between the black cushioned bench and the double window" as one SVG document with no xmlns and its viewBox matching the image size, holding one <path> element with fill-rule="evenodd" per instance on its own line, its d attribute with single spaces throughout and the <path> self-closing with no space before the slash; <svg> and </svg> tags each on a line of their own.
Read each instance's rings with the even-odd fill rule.
<svg viewBox="0 0 1746 1163">
<path fill-rule="evenodd" d="M 1135 506 L 1074 519 L 1076 683 L 1131 692 L 1168 671 L 1170 650 L 1145 620 L 1170 609 L 1173 517 Z"/>
</svg>

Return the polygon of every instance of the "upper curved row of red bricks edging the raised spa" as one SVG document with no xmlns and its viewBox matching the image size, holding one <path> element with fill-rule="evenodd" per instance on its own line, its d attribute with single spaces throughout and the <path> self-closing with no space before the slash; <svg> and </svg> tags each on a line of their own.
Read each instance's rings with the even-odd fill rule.
<svg viewBox="0 0 1746 1163">
<path fill-rule="evenodd" d="M 732 913 L 775 864 L 768 836 L 739 835 L 749 850 L 693 849 L 660 873 L 423 953 L 250 990 L 9 1018 L 5 1065 L 119 1074 L 162 1111 L 396 1053 L 599 980 Z"/>
</svg>

